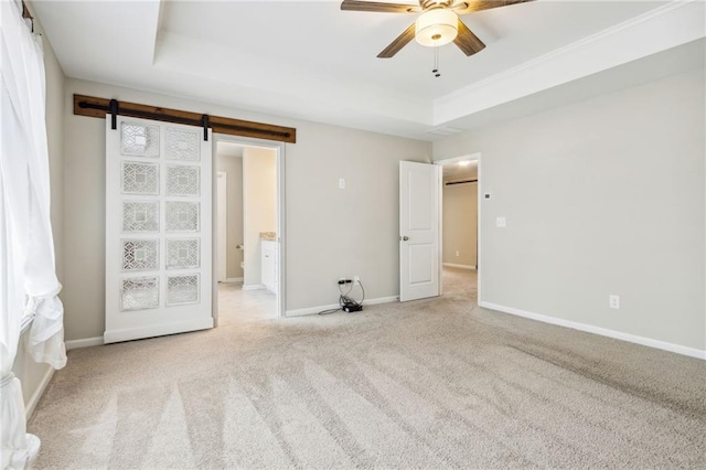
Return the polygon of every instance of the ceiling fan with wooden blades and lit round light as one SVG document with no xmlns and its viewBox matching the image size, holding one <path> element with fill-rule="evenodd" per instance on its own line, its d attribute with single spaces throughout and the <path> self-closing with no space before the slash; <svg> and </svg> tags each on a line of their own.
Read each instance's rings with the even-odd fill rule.
<svg viewBox="0 0 706 470">
<path fill-rule="evenodd" d="M 468 29 L 459 14 L 473 13 L 491 8 L 506 7 L 533 0 L 419 0 L 419 6 L 385 3 L 363 0 L 343 0 L 341 10 L 368 11 L 373 13 L 421 13 L 404 33 L 377 54 L 389 58 L 397 54 L 413 39 L 421 45 L 435 47 L 451 41 L 466 54 L 472 55 L 485 44 Z"/>
</svg>

